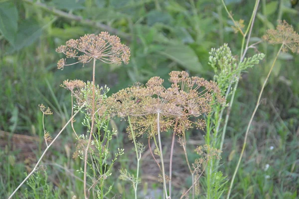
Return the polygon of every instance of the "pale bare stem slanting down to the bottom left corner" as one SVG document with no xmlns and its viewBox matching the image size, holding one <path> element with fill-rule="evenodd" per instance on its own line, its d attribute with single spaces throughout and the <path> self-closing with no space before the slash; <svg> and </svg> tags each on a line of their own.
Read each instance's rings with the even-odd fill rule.
<svg viewBox="0 0 299 199">
<path fill-rule="evenodd" d="M 67 123 L 62 127 L 62 129 L 59 131 L 59 133 L 56 135 L 56 137 L 53 139 L 53 141 L 47 146 L 47 148 L 44 150 L 44 152 L 42 153 L 41 157 L 39 158 L 39 160 L 37 161 L 37 163 L 35 164 L 34 168 L 32 169 L 32 171 L 30 172 L 30 174 L 28 174 L 28 176 L 21 182 L 21 184 L 13 191 L 13 193 L 9 196 L 8 199 L 11 199 L 13 197 L 13 195 L 17 192 L 17 190 L 28 180 L 28 178 L 30 178 L 30 176 L 36 171 L 37 166 L 39 165 L 39 163 L 41 162 L 42 158 L 44 157 L 44 155 L 46 154 L 46 152 L 48 151 L 48 149 L 51 147 L 51 145 L 56 141 L 56 139 L 60 136 L 60 134 L 63 132 L 63 130 L 67 127 L 67 125 L 74 119 L 74 117 L 80 112 L 80 110 L 84 107 L 85 105 L 83 104 L 75 113 L 74 115 L 71 117 L 71 119 L 69 119 L 69 121 L 67 121 Z"/>
</svg>

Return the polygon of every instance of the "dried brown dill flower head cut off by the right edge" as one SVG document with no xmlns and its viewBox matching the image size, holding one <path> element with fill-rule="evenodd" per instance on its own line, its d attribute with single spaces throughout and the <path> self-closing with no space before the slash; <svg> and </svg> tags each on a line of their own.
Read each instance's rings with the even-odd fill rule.
<svg viewBox="0 0 299 199">
<path fill-rule="evenodd" d="M 299 53 L 299 35 L 294 30 L 293 26 L 287 23 L 287 21 L 279 20 L 276 29 L 267 30 L 267 34 L 263 36 L 263 39 L 272 44 L 283 44 L 283 51 Z"/>
</svg>

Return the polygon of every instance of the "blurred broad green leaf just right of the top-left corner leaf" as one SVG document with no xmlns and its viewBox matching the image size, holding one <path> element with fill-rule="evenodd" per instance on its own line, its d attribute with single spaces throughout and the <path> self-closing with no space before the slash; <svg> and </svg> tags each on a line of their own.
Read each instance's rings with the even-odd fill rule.
<svg viewBox="0 0 299 199">
<path fill-rule="evenodd" d="M 19 26 L 14 50 L 19 50 L 25 46 L 32 44 L 41 35 L 42 28 L 36 21 L 24 20 Z"/>
</svg>

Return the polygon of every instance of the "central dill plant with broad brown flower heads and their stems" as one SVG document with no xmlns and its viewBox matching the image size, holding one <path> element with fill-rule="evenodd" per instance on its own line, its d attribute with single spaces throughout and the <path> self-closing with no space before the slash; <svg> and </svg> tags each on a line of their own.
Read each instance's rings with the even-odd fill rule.
<svg viewBox="0 0 299 199">
<path fill-rule="evenodd" d="M 213 104 L 224 104 L 225 102 L 219 87 L 213 81 L 207 81 L 200 77 L 189 77 L 189 74 L 185 71 L 172 71 L 169 73 L 169 76 L 169 82 L 171 83 L 169 88 L 165 88 L 162 85 L 164 80 L 160 77 L 152 77 L 145 85 L 137 83 L 129 88 L 120 90 L 107 99 L 110 115 L 128 118 L 129 126 L 127 132 L 129 133 L 129 138 L 133 139 L 135 143 L 138 161 L 140 157 L 138 153 L 141 153 L 141 150 L 138 150 L 138 148 L 143 147 L 137 147 L 137 145 L 143 145 L 136 143 L 136 137 L 147 134 L 149 139 L 152 138 L 154 140 L 154 154 L 159 157 L 160 163 L 156 160 L 154 154 L 151 154 L 160 169 L 159 176 L 160 182 L 163 183 L 163 198 L 165 199 L 171 198 L 172 157 L 170 157 L 170 170 L 167 174 L 162 153 L 163 142 L 161 134 L 171 130 L 173 137 L 178 136 L 180 145 L 186 149 L 185 132 L 192 128 L 203 129 L 205 121 L 201 116 L 210 113 Z M 173 144 L 174 139 L 172 139 L 171 155 L 173 154 Z M 199 176 L 202 175 L 199 168 L 204 162 L 210 160 L 210 152 L 213 150 L 211 147 L 207 147 L 209 158 L 198 161 L 192 166 L 185 151 L 186 162 L 192 175 L 192 186 L 187 192 L 183 193 L 182 197 L 191 189 L 194 197 L 194 185 L 198 181 Z M 121 179 L 133 182 L 135 198 L 137 198 L 136 188 L 140 182 L 136 178 L 138 173 L 134 176 L 126 170 L 122 170 L 121 174 Z M 195 175 L 198 178 L 195 178 Z M 168 189 L 167 182 L 169 183 Z"/>
</svg>

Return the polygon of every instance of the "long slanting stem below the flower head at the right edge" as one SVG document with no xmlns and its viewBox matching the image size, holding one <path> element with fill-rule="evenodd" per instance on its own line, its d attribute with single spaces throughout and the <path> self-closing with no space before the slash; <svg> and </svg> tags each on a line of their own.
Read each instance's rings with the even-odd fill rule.
<svg viewBox="0 0 299 199">
<path fill-rule="evenodd" d="M 262 88 L 261 88 L 261 91 L 260 91 L 260 94 L 259 94 L 259 97 L 258 97 L 257 104 L 256 104 L 256 106 L 255 106 L 255 109 L 254 109 L 254 111 L 253 111 L 253 113 L 252 113 L 252 115 L 251 115 L 250 121 L 249 121 L 249 123 L 248 123 L 247 129 L 246 129 L 246 133 L 245 133 L 245 138 L 244 138 L 244 143 L 243 143 L 242 151 L 241 151 L 241 154 L 240 154 L 240 157 L 239 157 L 239 160 L 238 160 L 238 163 L 237 163 L 237 166 L 236 166 L 234 175 L 233 175 L 232 180 L 231 180 L 231 184 L 230 184 L 230 187 L 229 187 L 229 190 L 228 190 L 228 194 L 227 194 L 227 197 L 226 197 L 227 199 L 229 199 L 229 197 L 230 197 L 230 193 L 231 193 L 231 190 L 232 190 L 232 187 L 233 187 L 233 184 L 234 184 L 234 180 L 235 180 L 235 177 L 236 177 L 236 175 L 237 175 L 237 172 L 238 172 L 238 169 L 239 169 L 239 166 L 240 166 L 240 163 L 241 163 L 241 160 L 242 160 L 244 151 L 245 151 L 246 141 L 247 141 L 247 137 L 248 137 L 248 134 L 249 134 L 249 129 L 250 129 L 251 123 L 252 123 L 253 118 L 254 118 L 254 116 L 255 116 L 255 114 L 256 114 L 258 108 L 259 108 L 259 105 L 260 105 L 260 102 L 261 102 L 261 98 L 262 98 L 262 94 L 263 94 L 264 88 L 265 88 L 265 86 L 266 86 L 266 83 L 267 83 L 267 81 L 268 81 L 268 79 L 269 79 L 269 76 L 270 76 L 272 70 L 273 70 L 273 67 L 274 67 L 275 62 L 276 62 L 276 60 L 277 60 L 277 57 L 278 57 L 279 53 L 281 52 L 283 46 L 284 46 L 284 44 L 282 44 L 281 48 L 279 49 L 279 51 L 278 51 L 277 54 L 276 54 L 276 57 L 275 57 L 275 59 L 274 59 L 274 61 L 273 61 L 273 63 L 272 63 L 272 66 L 271 66 L 271 68 L 270 68 L 270 70 L 269 70 L 269 72 L 268 72 L 268 75 L 267 75 L 267 77 L 266 77 L 266 79 L 265 79 L 265 81 L 264 81 L 264 83 L 263 83 Z"/>
</svg>

